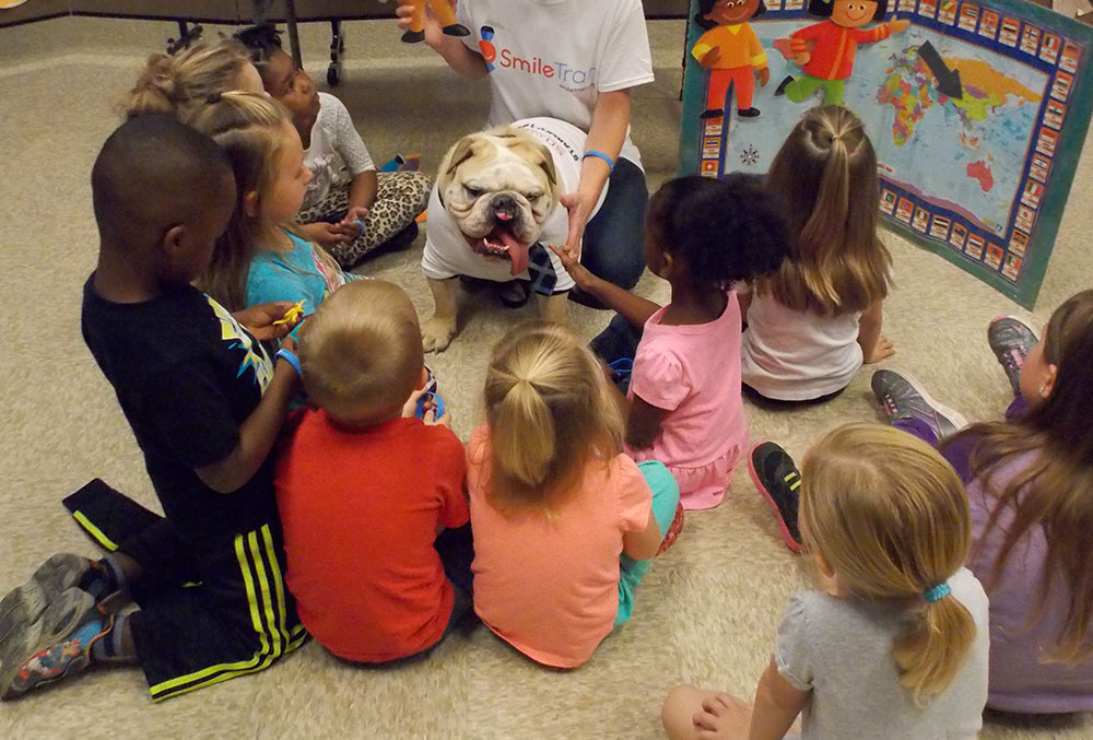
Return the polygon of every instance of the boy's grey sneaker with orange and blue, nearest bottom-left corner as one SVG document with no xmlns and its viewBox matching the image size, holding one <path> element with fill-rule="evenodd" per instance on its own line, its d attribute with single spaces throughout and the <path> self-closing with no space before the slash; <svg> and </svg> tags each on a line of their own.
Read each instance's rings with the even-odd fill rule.
<svg viewBox="0 0 1093 740">
<path fill-rule="evenodd" d="M 114 615 L 96 607 L 95 597 L 68 589 L 0 651 L 0 698 L 15 698 L 82 671 L 91 663 L 92 646 L 113 626 Z"/>
</svg>

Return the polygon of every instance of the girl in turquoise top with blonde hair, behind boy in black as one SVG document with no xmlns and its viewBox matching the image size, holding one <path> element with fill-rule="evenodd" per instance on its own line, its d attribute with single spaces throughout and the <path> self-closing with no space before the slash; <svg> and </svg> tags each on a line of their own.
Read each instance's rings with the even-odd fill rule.
<svg viewBox="0 0 1093 740">
<path fill-rule="evenodd" d="M 312 173 L 299 134 L 277 101 L 252 93 L 212 96 L 192 125 L 227 152 L 238 184 L 235 211 L 200 286 L 232 310 L 269 301 L 305 301 L 314 312 L 346 274 L 321 247 L 286 227 Z"/>
</svg>

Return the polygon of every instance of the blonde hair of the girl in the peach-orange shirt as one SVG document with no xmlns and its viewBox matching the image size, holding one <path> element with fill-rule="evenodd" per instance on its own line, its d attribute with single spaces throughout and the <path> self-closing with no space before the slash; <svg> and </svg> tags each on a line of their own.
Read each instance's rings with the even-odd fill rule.
<svg viewBox="0 0 1093 740">
<path fill-rule="evenodd" d="M 599 361 L 569 328 L 530 321 L 506 333 L 485 378 L 491 504 L 550 510 L 592 458 L 607 465 L 623 434 L 608 390 Z"/>
</svg>

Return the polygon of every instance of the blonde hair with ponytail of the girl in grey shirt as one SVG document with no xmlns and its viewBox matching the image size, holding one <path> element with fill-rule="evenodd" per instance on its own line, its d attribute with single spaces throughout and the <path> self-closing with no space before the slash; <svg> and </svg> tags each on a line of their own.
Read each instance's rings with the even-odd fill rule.
<svg viewBox="0 0 1093 740">
<path fill-rule="evenodd" d="M 971 515 L 944 458 L 906 432 L 856 422 L 826 434 L 801 470 L 806 547 L 851 596 L 906 600 L 910 620 L 892 645 L 900 682 L 917 704 L 955 680 L 975 622 L 953 597 L 927 602 L 967 559 Z"/>
</svg>

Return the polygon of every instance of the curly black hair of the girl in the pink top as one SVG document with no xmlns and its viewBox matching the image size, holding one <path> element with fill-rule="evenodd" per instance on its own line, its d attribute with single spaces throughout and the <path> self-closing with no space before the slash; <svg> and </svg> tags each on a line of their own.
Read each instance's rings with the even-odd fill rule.
<svg viewBox="0 0 1093 740">
<path fill-rule="evenodd" d="M 682 260 L 692 285 L 721 289 L 778 269 L 792 250 L 785 208 L 754 176 L 692 175 L 665 183 L 649 201 L 649 234 Z"/>
</svg>

